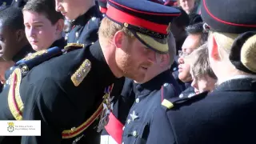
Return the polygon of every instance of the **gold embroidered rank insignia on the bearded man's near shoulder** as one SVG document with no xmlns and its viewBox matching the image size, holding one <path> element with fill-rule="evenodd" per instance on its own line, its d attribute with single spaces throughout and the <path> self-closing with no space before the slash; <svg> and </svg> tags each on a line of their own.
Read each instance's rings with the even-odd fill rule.
<svg viewBox="0 0 256 144">
<path fill-rule="evenodd" d="M 91 62 L 86 59 L 82 62 L 82 65 L 75 71 L 75 73 L 71 76 L 71 81 L 74 83 L 74 86 L 79 86 L 80 83 L 86 75 L 90 72 Z"/>
</svg>

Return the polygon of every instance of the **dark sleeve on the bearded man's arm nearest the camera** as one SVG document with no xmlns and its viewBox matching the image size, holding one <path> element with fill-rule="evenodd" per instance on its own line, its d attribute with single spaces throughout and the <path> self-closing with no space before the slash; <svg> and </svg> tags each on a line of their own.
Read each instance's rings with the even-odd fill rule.
<svg viewBox="0 0 256 144">
<path fill-rule="evenodd" d="M 37 82 L 23 92 L 27 94 L 23 120 L 41 120 L 41 136 L 22 137 L 22 144 L 60 144 L 62 128 L 66 127 L 74 111 L 65 92 L 51 79 Z M 38 88 L 40 87 L 40 88 Z M 23 90 L 26 87 L 22 87 Z"/>
</svg>

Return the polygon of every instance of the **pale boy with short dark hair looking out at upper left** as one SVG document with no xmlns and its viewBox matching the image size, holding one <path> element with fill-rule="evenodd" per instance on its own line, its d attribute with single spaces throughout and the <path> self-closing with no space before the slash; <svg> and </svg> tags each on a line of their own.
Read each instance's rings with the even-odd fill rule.
<svg viewBox="0 0 256 144">
<path fill-rule="evenodd" d="M 26 38 L 36 51 L 66 46 L 62 38 L 64 19 L 54 7 L 52 0 L 30 0 L 22 9 Z"/>
</svg>

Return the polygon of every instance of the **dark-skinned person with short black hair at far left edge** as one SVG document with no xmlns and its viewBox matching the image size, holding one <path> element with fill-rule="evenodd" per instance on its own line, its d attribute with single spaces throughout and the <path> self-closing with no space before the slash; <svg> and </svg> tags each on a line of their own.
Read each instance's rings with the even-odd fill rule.
<svg viewBox="0 0 256 144">
<path fill-rule="evenodd" d="M 22 10 L 19 8 L 10 6 L 0 11 L 0 37 L 0 57 L 6 61 L 18 62 L 26 54 L 34 52 L 26 39 Z M 6 71 L 6 79 L 11 70 Z"/>
</svg>

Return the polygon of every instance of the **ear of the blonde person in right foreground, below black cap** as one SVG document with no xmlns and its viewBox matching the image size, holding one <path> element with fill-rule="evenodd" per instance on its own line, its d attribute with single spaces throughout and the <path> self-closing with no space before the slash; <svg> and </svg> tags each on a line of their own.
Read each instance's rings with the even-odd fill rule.
<svg viewBox="0 0 256 144">
<path fill-rule="evenodd" d="M 209 38 L 208 50 L 209 58 L 214 59 L 214 61 L 219 61 L 221 59 L 219 56 L 218 45 L 216 39 L 214 38 L 214 35 L 211 38 Z"/>
</svg>

